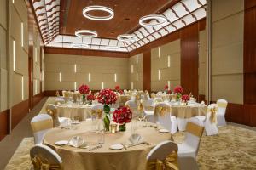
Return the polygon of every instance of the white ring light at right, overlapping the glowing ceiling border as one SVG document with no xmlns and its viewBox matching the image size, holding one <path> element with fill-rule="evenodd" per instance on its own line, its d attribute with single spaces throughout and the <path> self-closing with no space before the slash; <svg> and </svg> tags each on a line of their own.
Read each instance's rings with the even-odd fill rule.
<svg viewBox="0 0 256 170">
<path fill-rule="evenodd" d="M 147 23 L 146 20 L 156 20 L 157 23 Z M 167 19 L 165 16 L 160 14 L 149 14 L 147 16 L 143 16 L 139 20 L 139 24 L 141 26 L 162 26 L 167 22 Z"/>
</svg>

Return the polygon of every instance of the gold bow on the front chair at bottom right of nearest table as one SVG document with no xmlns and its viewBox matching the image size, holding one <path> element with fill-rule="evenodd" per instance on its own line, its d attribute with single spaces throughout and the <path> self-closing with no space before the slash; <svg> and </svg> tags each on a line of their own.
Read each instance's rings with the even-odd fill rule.
<svg viewBox="0 0 256 170">
<path fill-rule="evenodd" d="M 147 170 L 178 170 L 177 164 L 177 151 L 173 151 L 172 154 L 166 156 L 164 161 L 159 159 L 150 160 L 147 162 Z"/>
</svg>

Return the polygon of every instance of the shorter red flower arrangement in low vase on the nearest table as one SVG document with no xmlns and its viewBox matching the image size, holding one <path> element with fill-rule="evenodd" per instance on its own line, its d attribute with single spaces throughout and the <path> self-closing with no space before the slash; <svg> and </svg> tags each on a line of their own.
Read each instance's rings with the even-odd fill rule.
<svg viewBox="0 0 256 170">
<path fill-rule="evenodd" d="M 129 107 L 121 106 L 113 112 L 113 122 L 119 123 L 119 131 L 125 131 L 125 124 L 131 122 L 132 112 Z"/>
</svg>

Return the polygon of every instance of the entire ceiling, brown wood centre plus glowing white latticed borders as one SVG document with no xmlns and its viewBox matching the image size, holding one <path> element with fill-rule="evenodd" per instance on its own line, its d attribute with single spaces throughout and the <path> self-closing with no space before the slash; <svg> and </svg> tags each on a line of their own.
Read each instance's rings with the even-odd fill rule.
<svg viewBox="0 0 256 170">
<path fill-rule="evenodd" d="M 86 44 L 86 47 L 79 47 L 83 49 L 130 52 L 205 18 L 207 2 L 206 0 L 32 0 L 32 3 L 46 47 L 78 48 L 73 47 L 73 43 L 79 43 Z M 112 20 L 104 21 L 85 19 L 82 10 L 87 5 L 104 5 L 113 8 L 114 17 Z M 167 22 L 163 26 L 139 26 L 139 18 L 147 14 L 162 14 L 166 16 Z M 150 22 L 155 23 L 156 20 Z M 97 31 L 98 37 L 75 37 L 74 31 L 79 29 Z M 137 37 L 137 41 L 118 41 L 116 37 L 124 33 L 133 34 Z"/>
</svg>

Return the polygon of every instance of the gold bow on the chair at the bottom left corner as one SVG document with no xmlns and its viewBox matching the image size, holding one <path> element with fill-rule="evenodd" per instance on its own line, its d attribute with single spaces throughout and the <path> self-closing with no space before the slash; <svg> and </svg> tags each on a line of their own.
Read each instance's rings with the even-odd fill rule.
<svg viewBox="0 0 256 170">
<path fill-rule="evenodd" d="M 39 156 L 31 158 L 35 170 L 61 170 L 61 164 L 49 164 L 47 159 L 41 159 Z"/>
</svg>

